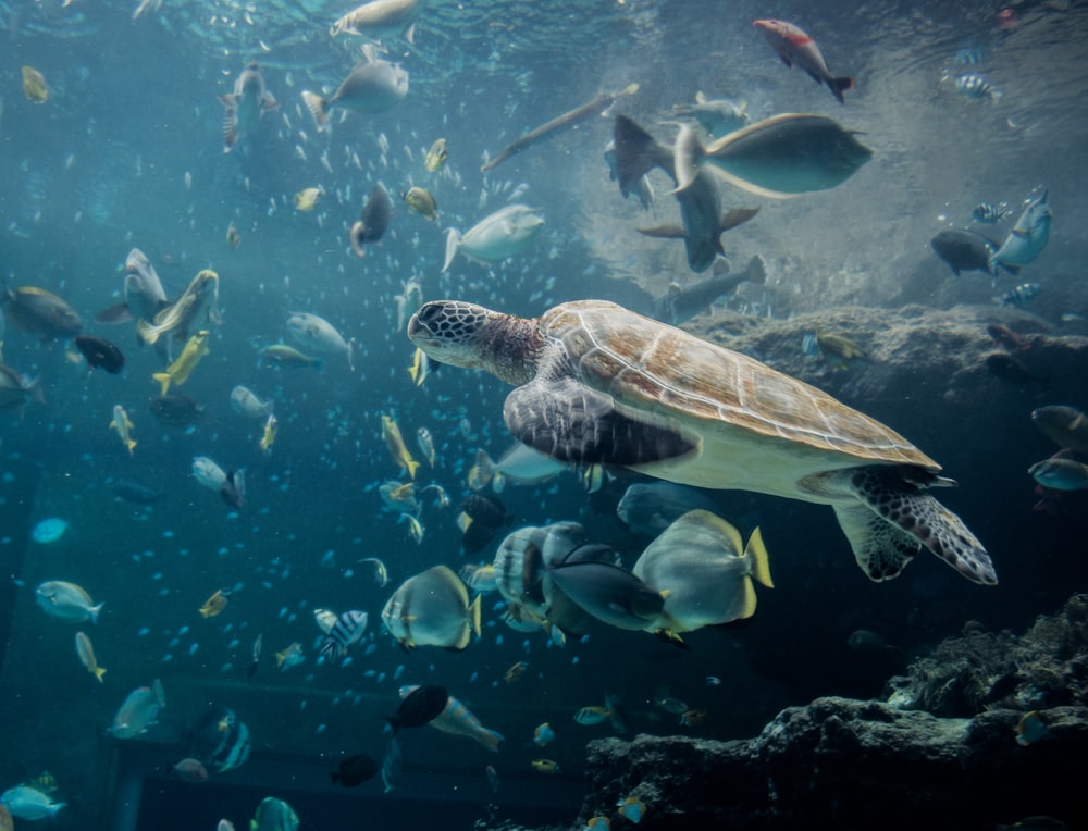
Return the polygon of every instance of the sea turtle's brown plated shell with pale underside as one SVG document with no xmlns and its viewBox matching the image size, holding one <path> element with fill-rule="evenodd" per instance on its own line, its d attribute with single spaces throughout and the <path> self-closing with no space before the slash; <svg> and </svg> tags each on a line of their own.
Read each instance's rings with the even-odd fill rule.
<svg viewBox="0 0 1088 831">
<path fill-rule="evenodd" d="M 796 494 L 811 473 L 857 464 L 940 470 L 903 436 L 816 387 L 615 303 L 559 305 L 541 317 L 540 332 L 568 359 L 544 361 L 542 372 L 569 371 L 629 418 L 668 423 L 700 443 L 698 462 L 671 462 L 676 474 L 664 477 L 672 481 L 735 486 L 726 469 L 740 464 L 751 476 L 745 457 L 780 480 L 758 489 L 783 494 Z M 682 472 L 696 463 L 697 474 Z"/>
</svg>

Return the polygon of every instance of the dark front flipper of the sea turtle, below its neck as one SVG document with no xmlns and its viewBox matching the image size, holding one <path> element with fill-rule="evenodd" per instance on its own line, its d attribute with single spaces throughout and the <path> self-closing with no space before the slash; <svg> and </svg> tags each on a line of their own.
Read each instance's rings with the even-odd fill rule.
<svg viewBox="0 0 1088 831">
<path fill-rule="evenodd" d="M 611 396 L 577 381 L 534 381 L 506 398 L 503 419 L 519 442 L 559 461 L 646 464 L 698 448 L 664 420 L 633 419 Z"/>
</svg>

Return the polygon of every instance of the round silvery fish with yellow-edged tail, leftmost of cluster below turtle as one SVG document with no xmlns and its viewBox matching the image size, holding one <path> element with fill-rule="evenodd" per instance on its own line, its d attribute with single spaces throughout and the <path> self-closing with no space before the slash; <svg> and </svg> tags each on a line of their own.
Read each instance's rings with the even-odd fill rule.
<svg viewBox="0 0 1088 831">
<path fill-rule="evenodd" d="M 480 596 L 446 566 L 434 566 L 406 580 L 385 608 L 382 622 L 405 649 L 442 646 L 463 649 L 480 634 Z"/>
</svg>

